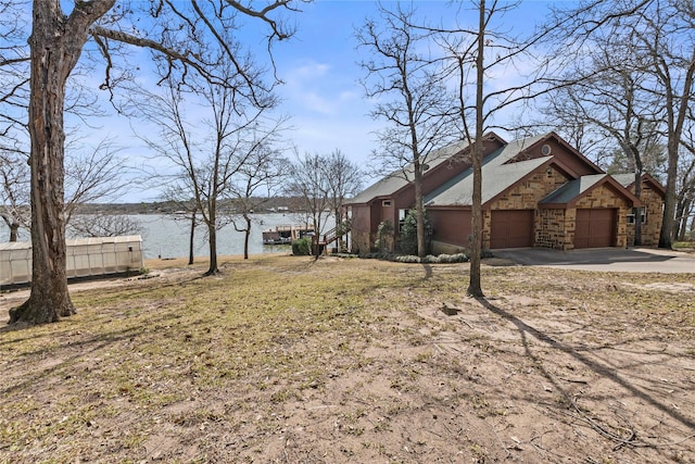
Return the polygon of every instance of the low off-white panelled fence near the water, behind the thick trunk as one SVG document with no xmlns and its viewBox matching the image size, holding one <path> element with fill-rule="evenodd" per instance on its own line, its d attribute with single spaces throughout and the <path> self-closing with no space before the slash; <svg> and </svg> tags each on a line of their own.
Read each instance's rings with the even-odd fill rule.
<svg viewBox="0 0 695 464">
<path fill-rule="evenodd" d="M 66 240 L 67 278 L 139 271 L 144 267 L 139 235 Z M 31 243 L 0 243 L 0 286 L 31 281 Z"/>
</svg>

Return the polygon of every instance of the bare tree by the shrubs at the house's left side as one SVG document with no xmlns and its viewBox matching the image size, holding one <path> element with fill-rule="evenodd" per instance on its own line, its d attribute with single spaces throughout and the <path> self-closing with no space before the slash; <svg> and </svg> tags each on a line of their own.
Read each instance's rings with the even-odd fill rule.
<svg viewBox="0 0 695 464">
<path fill-rule="evenodd" d="M 357 41 L 371 58 L 361 63 L 367 77 L 368 98 L 377 99 L 374 118 L 389 125 L 378 133 L 382 173 L 413 181 L 417 214 L 417 252 L 426 250 L 422 176 L 428 158 L 453 140 L 451 97 L 428 55 L 431 33 L 416 28 L 414 10 L 396 3 L 393 11 L 379 7 L 380 22 L 369 20 L 357 30 Z M 425 51 L 422 51 L 425 50 Z"/>
</svg>

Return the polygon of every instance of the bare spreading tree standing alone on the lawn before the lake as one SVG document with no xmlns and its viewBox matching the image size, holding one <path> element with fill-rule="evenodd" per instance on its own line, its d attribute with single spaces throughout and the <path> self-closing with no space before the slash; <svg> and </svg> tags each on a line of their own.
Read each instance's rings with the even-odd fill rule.
<svg viewBox="0 0 695 464">
<path fill-rule="evenodd" d="M 233 67 L 228 67 L 228 72 L 236 73 Z M 228 76 L 227 80 L 232 78 Z M 167 84 L 163 95 L 149 93 L 147 102 L 139 105 L 146 117 L 160 127 L 156 137 L 143 140 L 160 159 L 174 166 L 170 180 L 175 189 L 187 191 L 193 199 L 194 210 L 205 225 L 210 249 L 205 275 L 217 274 L 217 231 L 231 222 L 230 215 L 222 214 L 220 201 L 232 190 L 240 171 L 256 161 L 254 155 L 263 141 L 254 137 L 264 111 L 271 108 L 274 100 L 267 96 L 263 105 L 253 106 L 238 101 L 233 87 L 220 87 L 205 79 L 186 92 L 173 80 Z M 195 99 L 201 100 L 199 111 L 205 117 L 194 120 L 187 112 Z M 166 178 L 163 173 L 155 175 Z"/>
</svg>

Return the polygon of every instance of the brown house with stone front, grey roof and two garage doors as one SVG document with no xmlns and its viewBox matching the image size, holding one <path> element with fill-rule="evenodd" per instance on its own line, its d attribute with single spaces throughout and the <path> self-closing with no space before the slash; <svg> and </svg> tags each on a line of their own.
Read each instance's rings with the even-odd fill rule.
<svg viewBox="0 0 695 464">
<path fill-rule="evenodd" d="M 462 142 L 428 159 L 422 192 L 434 253 L 469 247 L 470 150 Z M 370 250 L 379 224 L 386 221 L 394 226 L 395 240 L 396 225 L 415 206 L 415 188 L 405 177 L 387 176 L 350 202 L 354 252 Z M 606 174 L 555 133 L 513 142 L 489 134 L 482 163 L 483 248 L 624 248 L 632 244 L 629 215 L 633 206 L 642 205 L 648 216 L 646 235 L 652 237 L 650 227 L 660 226 L 662 197 L 650 192 L 662 188 L 654 178 L 643 177 L 643 192 L 649 193 L 641 201 L 626 181 Z"/>
</svg>

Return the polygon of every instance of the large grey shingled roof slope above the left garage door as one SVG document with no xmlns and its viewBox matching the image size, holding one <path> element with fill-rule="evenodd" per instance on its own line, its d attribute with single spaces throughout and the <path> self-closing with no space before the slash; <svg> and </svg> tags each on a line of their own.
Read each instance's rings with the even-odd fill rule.
<svg viewBox="0 0 695 464">
<path fill-rule="evenodd" d="M 521 150 L 544 138 L 545 135 L 515 140 L 485 156 L 482 163 L 483 204 L 553 159 L 553 156 L 541 156 L 505 164 Z M 472 204 L 472 167 L 469 167 L 426 196 L 425 204 L 427 206 L 466 206 Z"/>
</svg>

